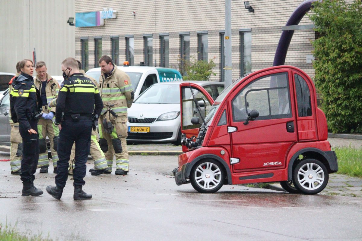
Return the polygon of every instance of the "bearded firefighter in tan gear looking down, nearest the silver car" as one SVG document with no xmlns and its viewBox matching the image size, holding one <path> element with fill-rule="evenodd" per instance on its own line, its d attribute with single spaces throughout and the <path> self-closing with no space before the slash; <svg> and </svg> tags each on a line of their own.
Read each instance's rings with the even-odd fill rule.
<svg viewBox="0 0 362 241">
<path fill-rule="evenodd" d="M 101 67 L 99 90 L 104 104 L 101 116 L 98 119 L 100 146 L 103 150 L 108 173 L 112 171 L 113 156 L 117 170 L 115 175 L 127 175 L 129 159 L 127 151 L 127 107 L 130 108 L 134 99 L 130 77 L 113 64 L 112 59 L 104 55 L 98 61 Z M 117 116 L 113 115 L 108 107 Z"/>
</svg>

